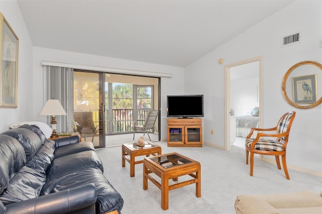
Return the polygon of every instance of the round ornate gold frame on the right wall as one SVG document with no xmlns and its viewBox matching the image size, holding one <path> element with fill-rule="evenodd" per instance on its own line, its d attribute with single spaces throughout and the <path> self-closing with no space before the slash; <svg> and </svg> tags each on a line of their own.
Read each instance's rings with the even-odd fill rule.
<svg viewBox="0 0 322 214">
<path fill-rule="evenodd" d="M 285 73 L 285 75 L 283 77 L 283 81 L 282 81 L 282 92 L 283 92 L 283 96 L 286 99 L 286 101 L 290 105 L 294 106 L 295 108 L 298 108 L 298 109 L 311 109 L 311 108 L 314 108 L 315 106 L 319 105 L 322 102 L 322 96 L 316 102 L 314 102 L 312 104 L 308 104 L 308 105 L 298 105 L 298 104 L 295 104 L 287 96 L 287 93 L 286 93 L 286 80 L 287 80 L 287 77 L 290 75 L 290 73 L 295 68 L 297 68 L 298 66 L 301 66 L 301 65 L 314 65 L 314 66 L 318 67 L 322 71 L 322 65 L 320 63 L 318 63 L 318 62 L 314 62 L 314 61 L 302 61 L 302 62 L 296 63 L 295 65 L 293 65 L 292 67 L 290 67 L 290 69 L 288 69 L 288 71 Z"/>
</svg>

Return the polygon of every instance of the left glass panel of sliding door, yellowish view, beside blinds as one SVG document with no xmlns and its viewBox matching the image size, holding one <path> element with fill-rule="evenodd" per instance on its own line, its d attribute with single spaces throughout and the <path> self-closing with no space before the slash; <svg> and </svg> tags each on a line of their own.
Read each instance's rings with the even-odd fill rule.
<svg viewBox="0 0 322 214">
<path fill-rule="evenodd" d="M 96 148 L 105 147 L 104 87 L 103 73 L 74 70 L 74 128 L 82 141 L 92 141 Z"/>
</svg>

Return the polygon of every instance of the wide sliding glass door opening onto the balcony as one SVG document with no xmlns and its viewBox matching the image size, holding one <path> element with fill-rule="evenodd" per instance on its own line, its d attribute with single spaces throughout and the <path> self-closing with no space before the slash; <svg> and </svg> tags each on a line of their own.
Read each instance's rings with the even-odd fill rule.
<svg viewBox="0 0 322 214">
<path fill-rule="evenodd" d="M 158 80 L 74 70 L 73 120 L 83 141 L 92 141 L 96 148 L 114 146 L 108 136 L 132 133 L 133 123 L 144 121 L 148 110 L 158 106 Z"/>
</svg>

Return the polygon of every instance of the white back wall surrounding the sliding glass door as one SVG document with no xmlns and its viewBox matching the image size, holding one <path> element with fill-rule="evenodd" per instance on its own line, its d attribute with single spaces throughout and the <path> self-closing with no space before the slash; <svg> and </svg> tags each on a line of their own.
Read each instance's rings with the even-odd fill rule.
<svg viewBox="0 0 322 214">
<path fill-rule="evenodd" d="M 41 84 L 33 85 L 33 120 L 46 122 L 46 117 L 39 116 L 39 113 L 44 105 L 45 92 L 43 91 L 43 79 L 44 72 L 42 61 L 69 63 L 76 65 L 87 65 L 105 68 L 119 68 L 132 70 L 132 74 L 135 71 L 150 71 L 150 72 L 161 72 L 173 74 L 173 77 L 162 77 L 161 78 L 161 139 L 167 139 L 167 95 L 173 94 L 174 91 L 183 93 L 184 68 L 151 64 L 137 61 L 129 61 L 122 59 L 115 59 L 109 57 L 101 57 L 95 55 L 88 55 L 82 53 L 74 53 L 53 49 L 46 49 L 40 47 L 33 48 L 33 81 Z"/>
</svg>

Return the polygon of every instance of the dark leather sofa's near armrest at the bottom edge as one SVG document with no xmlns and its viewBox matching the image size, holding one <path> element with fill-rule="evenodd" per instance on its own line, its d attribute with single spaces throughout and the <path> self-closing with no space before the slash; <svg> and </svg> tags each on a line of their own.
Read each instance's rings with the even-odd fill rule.
<svg viewBox="0 0 322 214">
<path fill-rule="evenodd" d="M 6 206 L 6 214 L 27 213 L 95 213 L 97 200 L 93 183 Z"/>
</svg>

